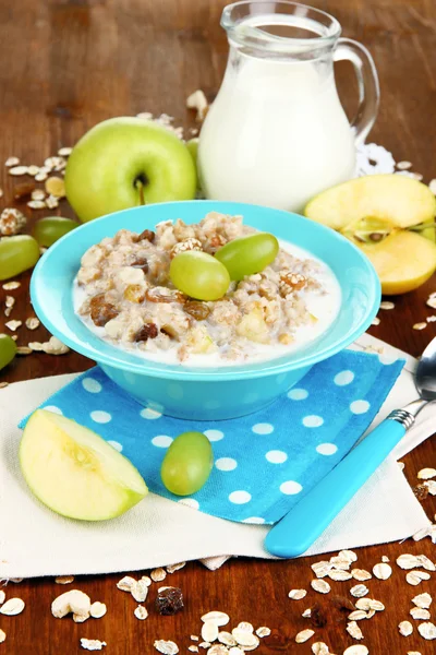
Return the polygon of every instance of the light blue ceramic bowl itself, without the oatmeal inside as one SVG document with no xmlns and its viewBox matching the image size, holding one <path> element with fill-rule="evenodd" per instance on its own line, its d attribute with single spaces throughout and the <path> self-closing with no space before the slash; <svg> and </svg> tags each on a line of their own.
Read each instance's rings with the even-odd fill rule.
<svg viewBox="0 0 436 655">
<path fill-rule="evenodd" d="M 245 224 L 305 248 L 332 269 L 342 290 L 341 309 L 316 342 L 266 362 L 201 369 L 146 360 L 101 341 L 84 325 L 74 313 L 72 286 L 81 257 L 90 246 L 122 227 L 141 233 L 170 218 L 197 223 L 210 211 L 242 214 Z M 251 414 L 272 403 L 314 364 L 351 344 L 374 319 L 380 285 L 358 248 L 303 216 L 235 202 L 191 201 L 136 207 L 82 225 L 40 259 L 31 294 L 44 325 L 77 353 L 95 359 L 136 401 L 169 416 L 217 420 Z"/>
</svg>

